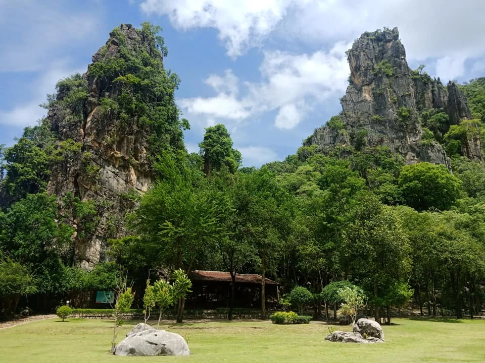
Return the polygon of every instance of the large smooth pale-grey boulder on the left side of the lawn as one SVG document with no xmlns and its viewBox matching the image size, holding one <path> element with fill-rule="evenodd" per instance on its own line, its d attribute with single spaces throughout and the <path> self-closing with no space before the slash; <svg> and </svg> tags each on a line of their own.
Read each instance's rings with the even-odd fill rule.
<svg viewBox="0 0 485 363">
<path fill-rule="evenodd" d="M 176 333 L 157 330 L 140 323 L 126 334 L 113 352 L 115 355 L 189 355 L 187 342 Z"/>
</svg>

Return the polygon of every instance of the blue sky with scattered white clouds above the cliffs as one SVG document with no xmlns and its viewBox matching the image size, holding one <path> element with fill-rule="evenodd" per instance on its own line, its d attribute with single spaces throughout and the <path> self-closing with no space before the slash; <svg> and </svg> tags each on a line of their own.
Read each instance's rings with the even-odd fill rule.
<svg viewBox="0 0 485 363">
<path fill-rule="evenodd" d="M 340 111 L 345 50 L 362 32 L 398 26 L 412 68 L 461 82 L 485 76 L 484 13 L 476 0 L 0 0 L 0 144 L 35 125 L 113 28 L 148 20 L 182 80 L 187 149 L 223 123 L 244 165 L 282 160 Z"/>
</svg>

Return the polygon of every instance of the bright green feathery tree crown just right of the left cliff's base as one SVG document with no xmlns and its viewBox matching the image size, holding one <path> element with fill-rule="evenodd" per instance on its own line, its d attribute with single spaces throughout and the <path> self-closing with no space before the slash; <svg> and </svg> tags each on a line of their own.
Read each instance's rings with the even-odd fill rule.
<svg viewBox="0 0 485 363">
<path fill-rule="evenodd" d="M 156 167 L 164 179 L 144 194 L 132 225 L 154 264 L 189 272 L 206 261 L 218 228 L 207 181 L 170 155 Z"/>
</svg>

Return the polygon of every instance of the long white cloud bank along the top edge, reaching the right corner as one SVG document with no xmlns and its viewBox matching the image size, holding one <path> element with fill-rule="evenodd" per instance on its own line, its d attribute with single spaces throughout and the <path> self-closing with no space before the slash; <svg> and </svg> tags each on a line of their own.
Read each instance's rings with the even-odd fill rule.
<svg viewBox="0 0 485 363">
<path fill-rule="evenodd" d="M 399 27 L 410 59 L 485 52 L 485 2 L 477 0 L 145 0 L 141 9 L 179 29 L 216 29 L 231 57 L 270 35 L 323 47 L 383 26 Z"/>
</svg>

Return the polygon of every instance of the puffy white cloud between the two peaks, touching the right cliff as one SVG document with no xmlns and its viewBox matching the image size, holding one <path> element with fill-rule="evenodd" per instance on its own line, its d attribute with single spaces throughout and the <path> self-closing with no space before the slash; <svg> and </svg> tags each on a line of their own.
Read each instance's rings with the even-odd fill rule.
<svg viewBox="0 0 485 363">
<path fill-rule="evenodd" d="M 348 45 L 336 44 L 330 51 L 291 54 L 268 51 L 260 66 L 262 81 L 241 84 L 232 71 L 210 75 L 205 81 L 217 93 L 213 97 L 179 101 L 187 113 L 209 119 L 240 123 L 268 111 L 277 111 L 278 129 L 295 128 L 312 109 L 331 96 L 345 92 L 349 67 Z M 245 92 L 243 92 L 243 90 Z"/>
</svg>

